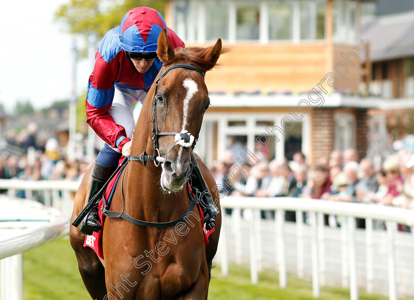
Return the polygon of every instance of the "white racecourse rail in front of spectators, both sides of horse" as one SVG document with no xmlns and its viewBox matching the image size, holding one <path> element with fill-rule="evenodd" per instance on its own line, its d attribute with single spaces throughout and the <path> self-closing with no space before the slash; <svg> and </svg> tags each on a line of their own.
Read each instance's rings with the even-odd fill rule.
<svg viewBox="0 0 414 300">
<path fill-rule="evenodd" d="M 79 184 L 1 179 L 0 189 L 6 189 L 9 197 L 20 190 L 26 198 L 40 193 L 46 206 L 69 217 Z M 278 270 L 281 289 L 287 286 L 288 272 L 310 279 L 314 298 L 320 297 L 324 285 L 348 288 L 351 300 L 359 299 L 358 288 L 388 294 L 390 300 L 397 300 L 399 294 L 414 296 L 414 236 L 397 230 L 401 225 L 414 227 L 412 210 L 288 197 L 224 197 L 221 207 L 223 226 L 216 261 L 223 275 L 229 274 L 229 263 L 236 263 L 250 267 L 252 284 L 257 284 L 263 268 Z M 275 218 L 263 219 L 261 211 L 273 211 Z M 285 221 L 285 211 L 295 211 L 295 223 Z M 325 226 L 324 215 L 341 227 Z M 356 228 L 355 218 L 365 219 L 365 229 Z M 27 250 L 26 242 L 16 241 L 7 255 Z"/>
</svg>

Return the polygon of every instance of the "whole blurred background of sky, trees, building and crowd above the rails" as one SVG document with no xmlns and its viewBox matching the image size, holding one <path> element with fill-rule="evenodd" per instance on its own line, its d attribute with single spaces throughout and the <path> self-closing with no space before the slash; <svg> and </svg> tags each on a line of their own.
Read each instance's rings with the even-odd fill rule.
<svg viewBox="0 0 414 300">
<path fill-rule="evenodd" d="M 0 178 L 83 177 L 103 146 L 85 114 L 95 53 L 136 6 L 160 11 L 186 46 L 221 38 L 231 48 L 206 75 L 211 106 L 195 150 L 221 195 L 414 208 L 412 0 L 2 3 Z M 322 222 L 341 228 L 335 216 Z M 409 283 L 401 289 L 414 297 Z"/>
</svg>

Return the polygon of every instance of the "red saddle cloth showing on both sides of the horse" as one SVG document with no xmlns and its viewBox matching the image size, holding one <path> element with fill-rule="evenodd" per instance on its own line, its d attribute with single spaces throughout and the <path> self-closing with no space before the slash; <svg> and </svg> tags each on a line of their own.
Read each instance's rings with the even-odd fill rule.
<svg viewBox="0 0 414 300">
<path fill-rule="evenodd" d="M 106 187 L 106 191 L 105 191 L 105 194 L 104 194 L 105 199 L 109 199 L 109 195 L 111 194 L 112 189 L 115 188 L 115 184 L 117 182 L 116 178 L 117 178 L 117 175 L 112 178 L 112 180 L 109 182 L 108 186 Z M 194 196 L 194 194 L 193 194 L 193 196 Z M 101 219 L 102 228 L 104 228 L 104 220 L 105 220 L 104 216 L 102 215 L 102 206 L 103 205 L 104 205 L 104 201 L 101 199 L 101 201 L 99 201 L 98 211 L 99 211 L 99 218 Z M 197 207 L 198 207 L 200 217 L 201 217 L 201 223 L 202 223 L 203 234 L 204 234 L 204 242 L 207 245 L 208 244 L 208 237 L 210 236 L 211 233 L 214 232 L 214 228 L 212 230 L 207 231 L 206 224 L 204 224 L 203 210 L 201 209 L 199 203 L 197 203 Z M 109 204 L 108 203 L 106 203 L 106 209 L 109 209 Z M 104 259 L 104 251 L 102 249 L 102 232 L 103 232 L 103 229 L 101 229 L 97 233 L 93 233 L 92 235 L 85 235 L 85 241 L 83 243 L 83 246 L 84 247 L 90 247 L 90 248 L 94 249 L 96 254 L 100 258 Z"/>
</svg>

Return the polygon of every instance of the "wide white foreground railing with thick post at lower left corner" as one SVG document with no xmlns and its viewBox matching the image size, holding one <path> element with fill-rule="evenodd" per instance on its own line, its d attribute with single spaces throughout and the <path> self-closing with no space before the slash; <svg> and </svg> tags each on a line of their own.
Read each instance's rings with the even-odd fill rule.
<svg viewBox="0 0 414 300">
<path fill-rule="evenodd" d="M 23 300 L 22 253 L 69 233 L 69 218 L 32 200 L 0 198 L 0 300 Z"/>
</svg>

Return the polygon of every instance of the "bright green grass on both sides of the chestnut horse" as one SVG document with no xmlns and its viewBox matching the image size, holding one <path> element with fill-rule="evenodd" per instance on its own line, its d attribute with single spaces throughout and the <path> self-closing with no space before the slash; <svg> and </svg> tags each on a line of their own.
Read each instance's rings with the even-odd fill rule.
<svg viewBox="0 0 414 300">
<path fill-rule="evenodd" d="M 24 254 L 24 300 L 87 300 L 91 299 L 77 269 L 69 239 L 63 238 L 32 249 Z M 288 277 L 287 288 L 278 288 L 278 276 L 263 271 L 259 283 L 250 284 L 248 269 L 231 266 L 230 276 L 222 277 L 220 268 L 212 270 L 209 288 L 212 300 L 310 300 L 310 282 Z M 324 287 L 321 300 L 349 300 L 349 291 Z M 386 297 L 367 295 L 360 291 L 360 300 L 386 300 Z"/>
</svg>

